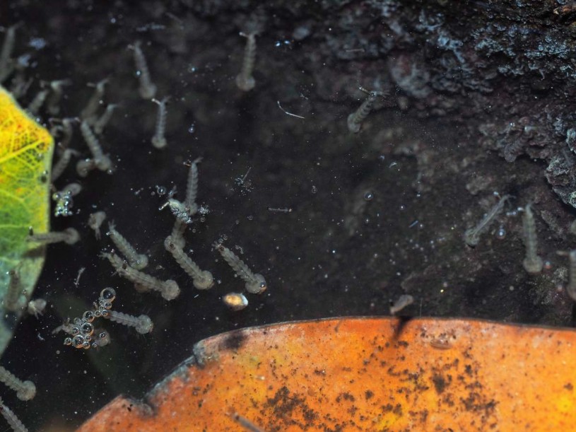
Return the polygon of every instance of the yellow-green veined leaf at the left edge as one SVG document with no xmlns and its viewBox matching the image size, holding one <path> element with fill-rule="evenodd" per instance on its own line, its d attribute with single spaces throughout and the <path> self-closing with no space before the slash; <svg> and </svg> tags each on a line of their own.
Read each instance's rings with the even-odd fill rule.
<svg viewBox="0 0 576 432">
<path fill-rule="evenodd" d="M 20 274 L 28 296 L 42 271 L 45 247 L 25 239 L 30 227 L 36 233 L 49 230 L 52 151 L 52 136 L 0 86 L 0 297 L 8 288 L 11 269 Z M 0 354 L 18 315 L 0 320 Z"/>
</svg>

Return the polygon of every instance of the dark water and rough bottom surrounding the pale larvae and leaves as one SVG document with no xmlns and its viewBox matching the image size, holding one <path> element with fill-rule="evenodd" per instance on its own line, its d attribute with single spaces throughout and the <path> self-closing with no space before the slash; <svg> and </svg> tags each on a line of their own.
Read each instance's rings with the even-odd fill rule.
<svg viewBox="0 0 576 432">
<path fill-rule="evenodd" d="M 52 245 L 35 296 L 49 301 L 28 317 L 2 357 L 38 394 L 1 396 L 31 430 L 77 426 L 119 393 L 142 397 L 191 356 L 196 341 L 230 329 L 339 315 L 386 315 L 410 293 L 406 315 L 478 317 L 571 325 L 563 291 L 573 238 L 573 33 L 560 2 L 507 1 L 9 1 L 0 23 L 22 23 L 15 56 L 30 54 L 33 78 L 70 78 L 62 101 L 74 117 L 110 78 L 105 103 L 119 103 L 101 139 L 116 168 L 78 180 L 74 165 L 57 180 L 80 181 L 74 226 L 81 242 Z M 576 16 L 574 16 L 576 20 Z M 253 91 L 235 86 L 245 39 L 257 29 Z M 132 52 L 143 42 L 157 97 L 170 95 L 168 146 L 151 146 L 156 105 L 142 100 Z M 9 81 L 5 83 L 9 88 Z M 359 134 L 346 117 L 365 95 L 389 92 Z M 305 117 L 286 115 L 278 107 Z M 47 121 L 47 116 L 42 117 Z M 529 125 L 531 132 L 524 127 Z M 535 132 L 534 132 L 535 131 Z M 78 129 L 71 144 L 88 156 Z M 503 158 L 517 150 L 512 163 Z M 202 156 L 199 202 L 208 206 L 186 233 L 187 250 L 217 279 L 197 291 L 165 252 L 172 229 L 166 196 L 183 199 L 186 160 Z M 74 163 L 76 160 L 74 160 Z M 249 170 L 244 184 L 237 180 Z M 161 189 L 160 188 L 160 189 Z M 501 196 L 514 199 L 472 249 L 464 230 Z M 366 194 L 372 199 L 366 199 Z M 522 267 L 522 214 L 534 203 L 543 274 Z M 567 204 L 565 204 L 567 203 Z M 269 211 L 289 208 L 290 213 Z M 179 298 L 139 294 L 98 257 L 88 215 L 109 220 L 175 279 Z M 102 227 L 103 233 L 106 226 Z M 500 235 L 498 235 L 500 231 Z M 269 289 L 230 312 L 221 296 L 243 283 L 213 250 L 225 240 L 266 276 Z M 86 267 L 78 286 L 74 280 Z M 81 315 L 105 286 L 114 308 L 151 316 L 152 334 L 104 322 L 112 344 L 99 351 L 63 346 L 52 335 Z M 313 347 L 311 347 L 313 349 Z"/>
</svg>

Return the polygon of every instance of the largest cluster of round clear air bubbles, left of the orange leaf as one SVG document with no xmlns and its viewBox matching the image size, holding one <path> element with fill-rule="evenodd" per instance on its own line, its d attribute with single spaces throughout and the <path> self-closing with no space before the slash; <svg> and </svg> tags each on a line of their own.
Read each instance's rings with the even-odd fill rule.
<svg viewBox="0 0 576 432">
<path fill-rule="evenodd" d="M 94 325 L 96 318 L 107 317 L 112 309 L 112 302 L 116 298 L 116 291 L 113 288 L 104 288 L 100 292 L 100 298 L 94 303 L 94 310 L 86 310 L 81 318 L 74 318 L 73 324 L 69 328 L 71 337 L 64 339 L 64 345 L 72 345 L 78 349 L 98 348 L 99 341 L 107 337 L 106 332 L 100 332 L 93 340 Z"/>
</svg>

